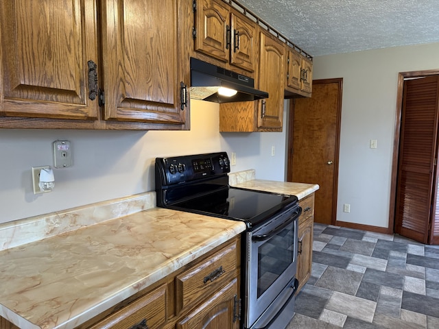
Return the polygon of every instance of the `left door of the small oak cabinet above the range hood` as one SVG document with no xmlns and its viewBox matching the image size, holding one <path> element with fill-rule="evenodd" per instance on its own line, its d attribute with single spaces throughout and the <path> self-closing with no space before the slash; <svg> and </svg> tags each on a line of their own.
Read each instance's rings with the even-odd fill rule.
<svg viewBox="0 0 439 329">
<path fill-rule="evenodd" d="M 228 62 L 230 25 L 228 5 L 222 1 L 197 0 L 195 50 Z"/>
</svg>

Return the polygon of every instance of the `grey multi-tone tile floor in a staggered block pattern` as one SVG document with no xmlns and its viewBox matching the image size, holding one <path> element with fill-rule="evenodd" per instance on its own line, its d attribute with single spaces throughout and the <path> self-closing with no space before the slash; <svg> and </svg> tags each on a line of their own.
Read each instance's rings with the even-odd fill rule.
<svg viewBox="0 0 439 329">
<path fill-rule="evenodd" d="M 316 223 L 295 307 L 286 329 L 439 329 L 439 246 Z"/>
</svg>

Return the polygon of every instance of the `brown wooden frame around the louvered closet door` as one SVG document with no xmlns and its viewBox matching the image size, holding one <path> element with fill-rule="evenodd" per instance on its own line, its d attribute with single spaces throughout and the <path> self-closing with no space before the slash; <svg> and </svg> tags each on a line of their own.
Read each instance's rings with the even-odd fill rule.
<svg viewBox="0 0 439 329">
<path fill-rule="evenodd" d="M 398 74 L 398 89 L 396 93 L 396 116 L 395 116 L 395 134 L 393 140 L 393 158 L 392 158 L 392 176 L 390 178 L 390 206 L 389 206 L 389 223 L 388 234 L 395 232 L 395 213 L 396 213 L 396 184 L 398 183 L 398 160 L 399 160 L 399 139 L 401 138 L 401 116 L 403 113 L 403 92 L 404 79 L 427 77 L 429 75 L 439 75 L 439 70 L 410 71 L 400 72 Z"/>
</svg>

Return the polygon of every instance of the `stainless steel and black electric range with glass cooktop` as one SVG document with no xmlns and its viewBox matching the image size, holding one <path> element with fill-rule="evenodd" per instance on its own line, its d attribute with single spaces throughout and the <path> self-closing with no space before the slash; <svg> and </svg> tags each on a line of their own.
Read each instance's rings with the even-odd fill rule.
<svg viewBox="0 0 439 329">
<path fill-rule="evenodd" d="M 246 223 L 240 328 L 285 328 L 294 315 L 298 217 L 294 195 L 228 184 L 226 152 L 156 158 L 157 206 Z"/>
</svg>

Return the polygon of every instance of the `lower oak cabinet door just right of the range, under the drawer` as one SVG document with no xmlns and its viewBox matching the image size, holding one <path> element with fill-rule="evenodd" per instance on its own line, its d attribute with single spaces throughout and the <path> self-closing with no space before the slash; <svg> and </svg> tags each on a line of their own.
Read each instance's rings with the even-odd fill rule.
<svg viewBox="0 0 439 329">
<path fill-rule="evenodd" d="M 299 280 L 298 291 L 307 283 L 311 276 L 312 252 L 313 252 L 313 217 L 308 217 L 299 225 L 298 231 L 299 254 L 297 261 L 297 279 Z"/>
</svg>

